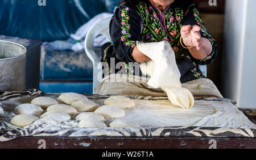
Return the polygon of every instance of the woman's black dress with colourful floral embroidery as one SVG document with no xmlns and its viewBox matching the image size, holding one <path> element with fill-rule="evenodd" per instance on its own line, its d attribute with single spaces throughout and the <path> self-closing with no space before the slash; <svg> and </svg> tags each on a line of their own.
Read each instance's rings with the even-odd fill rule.
<svg viewBox="0 0 256 160">
<path fill-rule="evenodd" d="M 207 38 L 212 44 L 212 53 L 204 59 L 195 59 L 180 45 L 180 29 L 183 25 L 199 25 L 201 37 Z M 204 77 L 196 64 L 206 65 L 212 63 L 217 55 L 216 41 L 204 27 L 199 12 L 192 1 L 179 0 L 172 3 L 165 11 L 160 11 L 148 0 L 122 0 L 110 22 L 110 35 L 113 44 L 104 51 L 103 62 L 110 63 L 110 58 L 115 58 L 115 63 L 124 62 L 127 74 L 133 75 L 134 68 L 129 62 L 135 62 L 131 53 L 136 41 L 142 42 L 170 42 L 175 51 L 176 58 L 192 59 L 194 67 L 189 68 L 188 74 L 195 79 Z M 109 65 L 110 66 L 110 65 Z M 119 70 L 110 69 L 109 73 Z M 191 80 L 194 80 L 191 78 Z"/>
</svg>

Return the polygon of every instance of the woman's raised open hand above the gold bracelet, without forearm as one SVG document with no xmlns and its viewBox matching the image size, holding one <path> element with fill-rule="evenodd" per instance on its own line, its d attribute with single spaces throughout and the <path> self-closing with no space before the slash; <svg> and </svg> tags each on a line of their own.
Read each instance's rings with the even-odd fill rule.
<svg viewBox="0 0 256 160">
<path fill-rule="evenodd" d="M 183 43 L 187 47 L 196 47 L 197 50 L 201 48 L 201 28 L 198 25 L 183 25 L 180 29 L 181 37 L 183 38 Z"/>
</svg>

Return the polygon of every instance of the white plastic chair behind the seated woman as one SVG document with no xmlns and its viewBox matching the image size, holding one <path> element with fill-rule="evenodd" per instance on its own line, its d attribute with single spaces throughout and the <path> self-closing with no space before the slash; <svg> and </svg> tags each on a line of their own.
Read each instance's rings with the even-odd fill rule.
<svg viewBox="0 0 256 160">
<path fill-rule="evenodd" d="M 109 41 L 111 41 L 111 37 L 109 34 L 109 23 L 110 19 L 104 19 L 97 24 L 94 24 L 92 28 L 89 29 L 88 33 L 85 37 L 85 53 L 92 60 L 93 63 L 93 94 L 96 94 L 98 85 L 100 85 L 100 81 L 98 79 L 98 75 L 102 70 L 101 65 L 101 53 L 97 53 L 94 50 L 94 39 L 102 34 Z M 203 72 L 204 76 L 207 75 L 207 66 L 199 66 L 199 69 Z"/>
</svg>

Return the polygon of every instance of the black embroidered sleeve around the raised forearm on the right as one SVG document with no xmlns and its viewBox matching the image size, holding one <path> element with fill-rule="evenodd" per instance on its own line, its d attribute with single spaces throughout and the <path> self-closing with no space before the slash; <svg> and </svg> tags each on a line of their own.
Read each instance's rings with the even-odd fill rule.
<svg viewBox="0 0 256 160">
<path fill-rule="evenodd" d="M 200 65 L 207 65 L 214 61 L 214 59 L 217 57 L 218 48 L 216 41 L 213 39 L 212 36 L 207 32 L 207 29 L 204 26 L 203 21 L 201 20 L 201 17 L 199 15 L 199 11 L 195 8 L 195 5 L 192 1 L 189 1 L 188 3 L 188 10 L 185 13 L 183 25 L 199 25 L 201 27 L 201 37 L 207 38 L 210 43 L 212 44 L 212 53 L 208 55 L 208 57 L 204 59 L 195 59 L 190 54 L 189 57 L 193 60 L 193 62 L 200 64 Z"/>
</svg>

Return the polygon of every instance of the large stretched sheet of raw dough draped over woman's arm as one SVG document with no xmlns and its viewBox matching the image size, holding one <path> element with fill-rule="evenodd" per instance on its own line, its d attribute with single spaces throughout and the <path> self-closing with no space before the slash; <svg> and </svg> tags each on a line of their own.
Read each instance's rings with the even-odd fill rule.
<svg viewBox="0 0 256 160">
<path fill-rule="evenodd" d="M 181 88 L 180 72 L 170 43 L 167 41 L 153 43 L 137 41 L 137 46 L 143 54 L 152 59 L 141 65 L 142 73 L 151 76 L 147 84 L 164 90 L 175 106 L 185 109 L 192 107 L 193 95 L 188 89 Z"/>
</svg>

